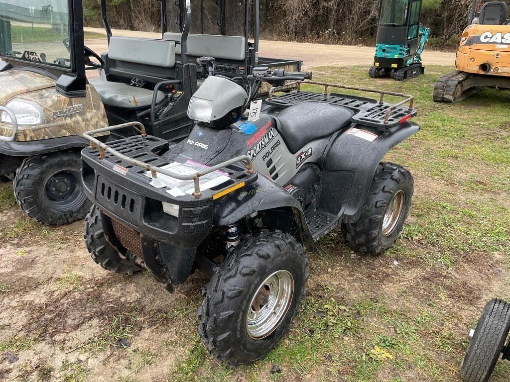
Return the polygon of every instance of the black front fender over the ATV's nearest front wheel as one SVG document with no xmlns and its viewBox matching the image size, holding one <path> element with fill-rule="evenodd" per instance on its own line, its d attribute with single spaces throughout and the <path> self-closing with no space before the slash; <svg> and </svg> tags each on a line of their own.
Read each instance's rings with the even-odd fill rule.
<svg viewBox="0 0 510 382">
<path fill-rule="evenodd" d="M 262 174 L 253 183 L 216 202 L 213 208 L 215 226 L 234 224 L 260 213 L 266 225 L 293 234 L 307 251 L 315 251 L 299 202 L 284 187 Z"/>
</svg>

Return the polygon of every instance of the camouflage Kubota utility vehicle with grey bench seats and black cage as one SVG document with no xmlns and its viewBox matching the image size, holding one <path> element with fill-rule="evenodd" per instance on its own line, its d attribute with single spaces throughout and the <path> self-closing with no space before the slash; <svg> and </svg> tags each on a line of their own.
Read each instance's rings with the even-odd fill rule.
<svg viewBox="0 0 510 382">
<path fill-rule="evenodd" d="M 214 56 L 214 72 L 246 86 L 259 65 L 259 4 L 163 1 L 161 38 L 147 39 L 112 36 L 107 0 L 101 0 L 109 52 L 99 57 L 84 45 L 82 0 L 50 3 L 0 0 L 0 176 L 14 180 L 16 200 L 29 216 L 61 225 L 90 208 L 80 181 L 82 134 L 139 121 L 164 140 L 187 137 L 189 100 L 209 75 L 197 71 L 195 59 Z M 301 65 L 259 61 L 293 70 Z M 88 69 L 99 70 L 99 78 L 89 80 Z"/>
</svg>

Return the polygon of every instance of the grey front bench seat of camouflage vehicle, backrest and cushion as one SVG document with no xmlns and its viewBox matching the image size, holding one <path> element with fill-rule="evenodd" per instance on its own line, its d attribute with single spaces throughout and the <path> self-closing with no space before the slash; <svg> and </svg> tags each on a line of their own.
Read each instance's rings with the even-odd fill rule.
<svg viewBox="0 0 510 382">
<path fill-rule="evenodd" d="M 112 60 L 162 68 L 175 66 L 175 43 L 173 41 L 141 39 L 131 37 L 111 37 L 108 57 Z M 89 81 L 103 100 L 103 103 L 121 108 L 149 107 L 152 90 L 131 86 L 123 82 L 108 81 L 105 71 L 101 76 Z M 158 92 L 157 102 L 164 98 Z"/>
</svg>

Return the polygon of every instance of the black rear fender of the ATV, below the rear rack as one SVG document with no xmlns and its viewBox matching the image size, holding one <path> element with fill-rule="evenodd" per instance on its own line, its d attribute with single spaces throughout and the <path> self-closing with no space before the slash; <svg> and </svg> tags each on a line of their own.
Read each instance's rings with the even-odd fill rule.
<svg viewBox="0 0 510 382">
<path fill-rule="evenodd" d="M 378 163 L 400 142 L 420 130 L 414 122 L 398 124 L 384 132 L 355 125 L 377 135 L 373 141 L 353 135 L 348 129 L 331 144 L 324 163 L 319 198 L 321 209 L 338 213 L 345 206 L 343 223 L 358 220 Z"/>
</svg>

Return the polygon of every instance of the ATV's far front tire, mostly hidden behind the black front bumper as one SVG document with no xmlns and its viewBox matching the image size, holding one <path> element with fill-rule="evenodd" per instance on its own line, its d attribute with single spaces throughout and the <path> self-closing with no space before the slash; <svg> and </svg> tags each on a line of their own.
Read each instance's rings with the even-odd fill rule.
<svg viewBox="0 0 510 382">
<path fill-rule="evenodd" d="M 92 260 L 104 269 L 128 275 L 133 275 L 135 272 L 142 270 L 132 262 L 122 260 L 117 251 L 106 240 L 101 214 L 95 204 L 92 205 L 90 212 L 85 217 L 84 238 Z"/>
</svg>

